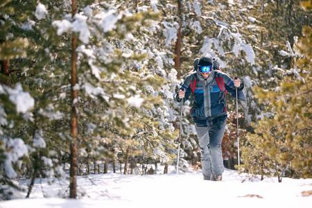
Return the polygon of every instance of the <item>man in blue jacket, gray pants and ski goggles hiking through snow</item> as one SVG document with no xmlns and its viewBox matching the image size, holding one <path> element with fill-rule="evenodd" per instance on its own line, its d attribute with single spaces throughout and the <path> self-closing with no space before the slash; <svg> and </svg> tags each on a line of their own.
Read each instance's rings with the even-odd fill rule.
<svg viewBox="0 0 312 208">
<path fill-rule="evenodd" d="M 221 143 L 227 119 L 225 94 L 235 97 L 237 87 L 238 98 L 245 100 L 245 96 L 241 80 L 214 70 L 213 63 L 211 55 L 202 56 L 198 70 L 185 78 L 175 99 L 181 102 L 193 96 L 191 116 L 196 124 L 202 175 L 204 180 L 220 181 L 224 171 Z"/>
</svg>

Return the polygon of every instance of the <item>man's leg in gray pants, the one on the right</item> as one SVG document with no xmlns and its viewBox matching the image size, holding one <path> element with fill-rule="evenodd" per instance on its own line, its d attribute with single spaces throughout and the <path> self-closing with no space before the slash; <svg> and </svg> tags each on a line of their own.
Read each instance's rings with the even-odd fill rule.
<svg viewBox="0 0 312 208">
<path fill-rule="evenodd" d="M 224 166 L 221 144 L 224 131 L 225 121 L 217 121 L 216 123 L 212 123 L 211 128 L 209 128 L 211 173 L 213 175 L 211 180 L 222 180 L 221 175 L 224 171 Z"/>
</svg>

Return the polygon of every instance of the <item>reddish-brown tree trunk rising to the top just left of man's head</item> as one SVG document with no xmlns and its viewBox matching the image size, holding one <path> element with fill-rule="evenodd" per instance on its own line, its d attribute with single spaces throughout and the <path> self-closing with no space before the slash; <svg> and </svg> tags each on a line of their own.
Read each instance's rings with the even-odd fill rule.
<svg viewBox="0 0 312 208">
<path fill-rule="evenodd" d="M 177 0 L 177 15 L 179 19 L 179 28 L 177 30 L 177 40 L 175 42 L 175 69 L 177 70 L 177 77 L 181 77 L 181 46 L 182 46 L 182 3 Z"/>
</svg>

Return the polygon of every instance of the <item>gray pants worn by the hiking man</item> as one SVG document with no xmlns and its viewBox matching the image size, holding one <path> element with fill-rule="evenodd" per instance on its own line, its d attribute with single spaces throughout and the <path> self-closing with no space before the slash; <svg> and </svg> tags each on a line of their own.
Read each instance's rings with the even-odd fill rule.
<svg viewBox="0 0 312 208">
<path fill-rule="evenodd" d="M 221 143 L 225 121 L 209 122 L 207 126 L 196 126 L 202 161 L 202 175 L 210 180 L 211 173 L 221 175 L 224 171 Z"/>
</svg>

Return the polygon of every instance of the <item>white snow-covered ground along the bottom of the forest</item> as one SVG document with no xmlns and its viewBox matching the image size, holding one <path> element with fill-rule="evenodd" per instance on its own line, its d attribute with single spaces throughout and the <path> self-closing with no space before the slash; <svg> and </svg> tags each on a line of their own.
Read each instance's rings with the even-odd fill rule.
<svg viewBox="0 0 312 208">
<path fill-rule="evenodd" d="M 247 180 L 246 180 L 247 179 Z M 31 199 L 0 202 L 0 207 L 311 207 L 312 179 L 263 181 L 226 170 L 222 182 L 202 180 L 200 172 L 179 175 L 98 174 L 78 177 L 79 200 L 68 195 L 65 179 L 38 179 Z M 244 181 L 244 182 L 242 182 Z M 21 181 L 26 184 L 28 181 Z M 306 192 L 304 192 L 306 191 Z M 304 196 L 303 193 L 308 193 Z"/>
</svg>

